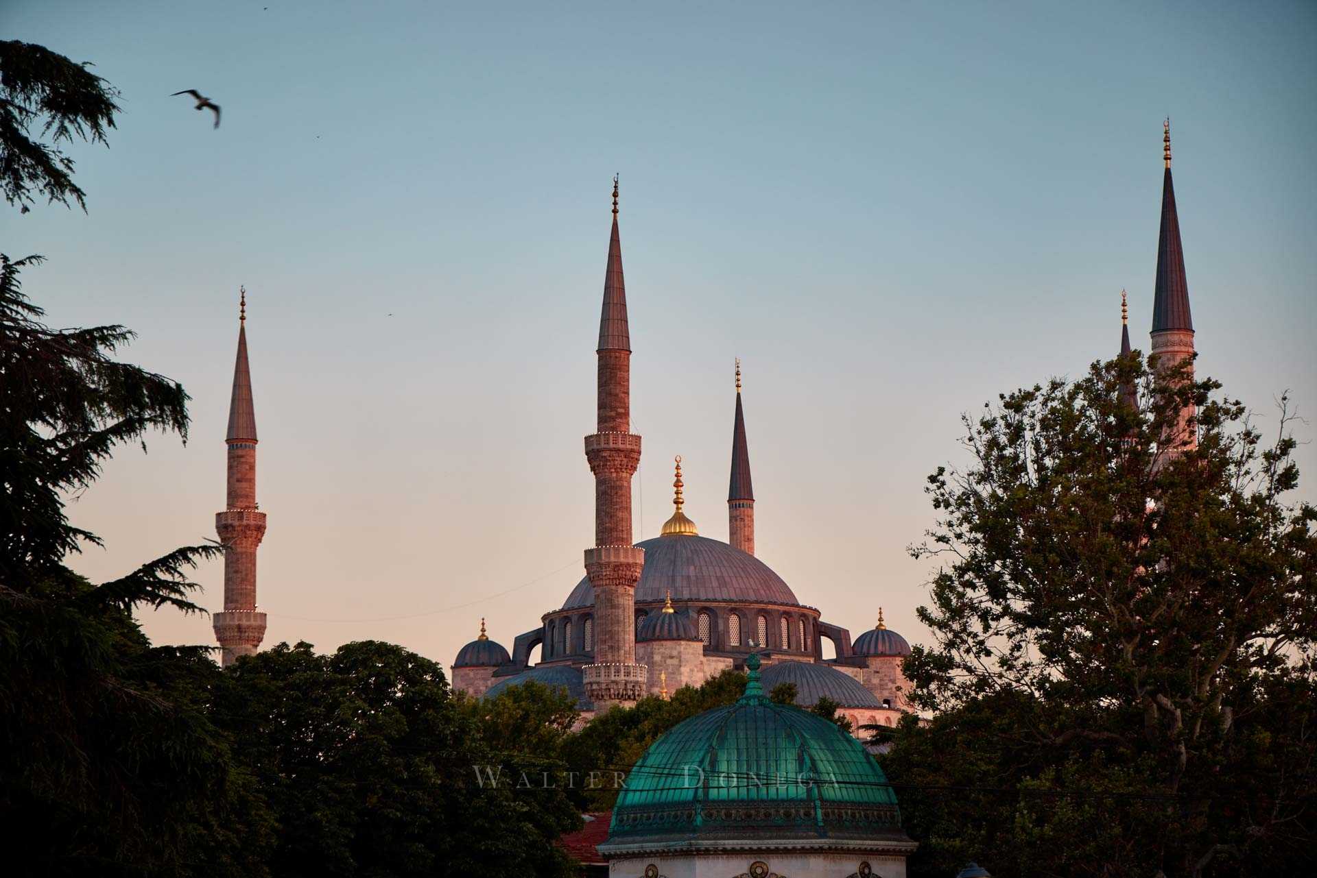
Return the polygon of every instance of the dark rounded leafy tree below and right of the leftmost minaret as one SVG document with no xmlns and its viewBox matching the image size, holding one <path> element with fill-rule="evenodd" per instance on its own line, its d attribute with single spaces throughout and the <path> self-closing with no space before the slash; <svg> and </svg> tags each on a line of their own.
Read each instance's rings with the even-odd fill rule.
<svg viewBox="0 0 1317 878">
<path fill-rule="evenodd" d="M 274 810 L 274 874 L 572 874 L 553 844 L 579 827 L 564 791 L 491 782 L 502 742 L 421 656 L 279 644 L 229 669 L 212 710 Z"/>
</svg>

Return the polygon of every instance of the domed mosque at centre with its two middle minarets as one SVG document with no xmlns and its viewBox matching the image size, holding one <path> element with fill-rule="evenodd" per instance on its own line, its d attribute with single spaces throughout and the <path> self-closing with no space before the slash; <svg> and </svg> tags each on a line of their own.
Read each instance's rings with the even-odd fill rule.
<svg viewBox="0 0 1317 878">
<path fill-rule="evenodd" d="M 881 608 L 874 607 L 877 625 L 852 642 L 846 627 L 826 621 L 756 557 L 739 362 L 728 541 L 701 536 L 684 512 L 678 457 L 672 517 L 657 537 L 632 542 L 631 477 L 640 462 L 640 437 L 630 432 L 631 326 L 616 180 L 597 354 L 598 424 L 585 438 L 595 478 L 595 545 L 585 552 L 586 575 L 536 628 L 512 640 L 511 653 L 489 637 L 482 620 L 479 637 L 453 661 L 453 687 L 485 695 L 527 681 L 562 686 L 590 716 L 743 669 L 753 648 L 769 690 L 794 683 L 797 703 L 806 707 L 830 698 L 856 729 L 894 725 L 906 710 L 901 662 L 910 645 L 884 624 Z M 835 658 L 823 659 L 824 640 L 831 641 Z M 536 646 L 540 661 L 532 666 Z"/>
</svg>

